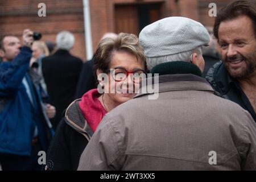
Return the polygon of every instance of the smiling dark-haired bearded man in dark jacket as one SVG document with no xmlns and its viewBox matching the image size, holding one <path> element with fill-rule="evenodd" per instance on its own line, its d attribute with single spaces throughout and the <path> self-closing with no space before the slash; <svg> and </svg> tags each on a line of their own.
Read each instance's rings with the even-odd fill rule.
<svg viewBox="0 0 256 182">
<path fill-rule="evenodd" d="M 214 36 L 223 62 L 216 63 L 205 77 L 214 90 L 249 111 L 256 122 L 256 8 L 236 1 L 218 13 Z"/>
</svg>

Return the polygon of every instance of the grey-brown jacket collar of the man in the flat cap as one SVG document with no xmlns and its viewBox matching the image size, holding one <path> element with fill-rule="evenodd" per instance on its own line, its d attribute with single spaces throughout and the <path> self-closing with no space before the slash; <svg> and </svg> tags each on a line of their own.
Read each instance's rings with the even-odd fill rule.
<svg viewBox="0 0 256 182">
<path fill-rule="evenodd" d="M 148 90 L 147 88 L 156 88 L 155 85 L 159 84 L 159 89 L 153 92 L 138 93 L 136 97 L 144 96 L 147 94 L 177 91 L 177 90 L 205 90 L 215 93 L 212 86 L 202 77 L 193 74 L 175 74 L 175 75 L 162 75 L 147 78 L 146 85 L 142 85 L 141 90 Z M 152 84 L 151 84 L 152 83 Z M 154 86 L 153 86 L 154 85 Z"/>
</svg>

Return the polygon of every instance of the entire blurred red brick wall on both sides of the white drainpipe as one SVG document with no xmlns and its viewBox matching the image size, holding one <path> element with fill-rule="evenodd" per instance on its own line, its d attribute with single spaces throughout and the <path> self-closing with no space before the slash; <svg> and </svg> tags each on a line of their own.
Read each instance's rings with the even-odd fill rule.
<svg viewBox="0 0 256 182">
<path fill-rule="evenodd" d="M 233 0 L 90 0 L 93 50 L 96 50 L 105 32 L 115 31 L 115 5 L 143 5 L 162 3 L 161 18 L 186 16 L 213 26 L 214 17 L 209 17 L 209 3 L 216 3 L 217 9 Z M 256 3 L 256 0 L 252 0 Z M 46 3 L 46 17 L 38 17 L 38 3 Z M 73 32 L 76 43 L 72 53 L 85 61 L 84 15 L 82 0 L 0 0 L 0 34 L 22 35 L 24 28 L 40 31 L 43 40 L 55 41 L 57 32 Z"/>
</svg>

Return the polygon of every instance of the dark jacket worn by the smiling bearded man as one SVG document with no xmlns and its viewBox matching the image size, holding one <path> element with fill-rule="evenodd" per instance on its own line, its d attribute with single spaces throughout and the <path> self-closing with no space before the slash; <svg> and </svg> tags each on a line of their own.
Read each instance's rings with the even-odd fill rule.
<svg viewBox="0 0 256 182">
<path fill-rule="evenodd" d="M 222 97 L 236 102 L 243 107 L 243 109 L 249 111 L 251 117 L 253 117 L 256 122 L 256 114 L 253 106 L 251 106 L 250 101 L 241 89 L 237 80 L 229 75 L 222 61 L 214 64 L 213 67 L 209 69 L 205 79 L 212 85 L 216 92 L 221 94 Z"/>
</svg>

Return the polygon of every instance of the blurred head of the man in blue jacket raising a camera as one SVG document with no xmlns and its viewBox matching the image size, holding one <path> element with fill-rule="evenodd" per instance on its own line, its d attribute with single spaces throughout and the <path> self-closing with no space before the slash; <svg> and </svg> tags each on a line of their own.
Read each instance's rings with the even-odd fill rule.
<svg viewBox="0 0 256 182">
<path fill-rule="evenodd" d="M 0 56 L 3 61 L 13 60 L 20 52 L 20 41 L 15 36 L 6 36 L 3 39 L 3 49 L 0 49 Z"/>
</svg>

